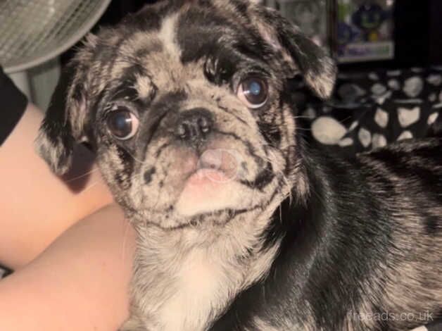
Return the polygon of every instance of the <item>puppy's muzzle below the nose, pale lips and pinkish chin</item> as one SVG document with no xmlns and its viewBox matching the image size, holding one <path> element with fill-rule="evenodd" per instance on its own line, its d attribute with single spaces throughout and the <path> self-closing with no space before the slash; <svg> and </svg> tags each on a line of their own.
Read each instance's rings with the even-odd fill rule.
<svg viewBox="0 0 442 331">
<path fill-rule="evenodd" d="M 140 206 L 159 213 L 165 227 L 222 211 L 243 211 L 264 194 L 256 185 L 272 181 L 272 166 L 260 154 L 259 147 L 227 139 L 200 150 L 180 144 L 160 147 L 160 153 L 151 150 L 158 165 L 153 172 L 142 170 L 147 180 Z"/>
</svg>

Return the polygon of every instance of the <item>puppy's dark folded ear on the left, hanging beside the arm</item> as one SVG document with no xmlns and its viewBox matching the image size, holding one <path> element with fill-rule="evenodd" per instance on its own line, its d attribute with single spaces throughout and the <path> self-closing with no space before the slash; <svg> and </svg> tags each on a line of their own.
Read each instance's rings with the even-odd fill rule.
<svg viewBox="0 0 442 331">
<path fill-rule="evenodd" d="M 94 37 L 89 35 L 84 49 L 63 69 L 35 141 L 37 153 L 57 175 L 70 170 L 75 144 L 87 140 L 87 68 L 80 59 L 90 51 L 93 42 Z"/>
</svg>

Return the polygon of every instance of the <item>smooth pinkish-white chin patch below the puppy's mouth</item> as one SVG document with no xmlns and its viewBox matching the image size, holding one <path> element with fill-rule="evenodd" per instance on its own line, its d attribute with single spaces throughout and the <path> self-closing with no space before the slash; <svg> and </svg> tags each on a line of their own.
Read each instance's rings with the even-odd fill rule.
<svg viewBox="0 0 442 331">
<path fill-rule="evenodd" d="M 199 169 L 184 183 L 175 204 L 175 212 L 184 218 L 236 209 L 241 204 L 244 187 L 227 173 Z"/>
</svg>

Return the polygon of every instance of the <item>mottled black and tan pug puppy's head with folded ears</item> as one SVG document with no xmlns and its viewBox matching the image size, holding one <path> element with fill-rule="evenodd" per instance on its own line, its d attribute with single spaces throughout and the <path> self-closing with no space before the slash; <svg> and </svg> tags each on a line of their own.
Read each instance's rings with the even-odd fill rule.
<svg viewBox="0 0 442 331">
<path fill-rule="evenodd" d="M 131 219 L 167 228 L 225 223 L 300 185 L 290 80 L 321 97 L 334 82 L 321 49 L 248 1 L 148 6 L 89 36 L 70 68 L 42 156 L 63 173 L 89 142 Z"/>
</svg>

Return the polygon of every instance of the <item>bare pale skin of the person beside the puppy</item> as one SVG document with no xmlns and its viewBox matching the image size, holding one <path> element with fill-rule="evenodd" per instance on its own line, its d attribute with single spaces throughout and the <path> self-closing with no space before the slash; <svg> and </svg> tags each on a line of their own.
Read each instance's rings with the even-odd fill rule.
<svg viewBox="0 0 442 331">
<path fill-rule="evenodd" d="M 0 281 L 0 330 L 117 330 L 134 230 L 94 165 L 62 180 L 37 156 L 42 118 L 28 106 L 0 147 L 0 262 L 16 270 Z"/>
</svg>

